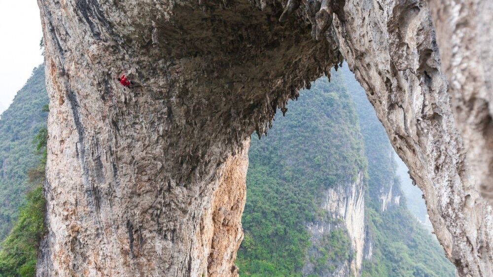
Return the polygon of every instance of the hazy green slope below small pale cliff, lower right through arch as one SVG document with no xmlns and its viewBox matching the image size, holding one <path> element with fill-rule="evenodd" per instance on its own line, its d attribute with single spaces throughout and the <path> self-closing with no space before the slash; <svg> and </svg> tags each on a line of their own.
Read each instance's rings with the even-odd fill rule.
<svg viewBox="0 0 493 277">
<path fill-rule="evenodd" d="M 385 212 L 367 208 L 366 216 L 374 249 L 363 277 L 455 276 L 441 246 L 402 203 Z"/>
</svg>

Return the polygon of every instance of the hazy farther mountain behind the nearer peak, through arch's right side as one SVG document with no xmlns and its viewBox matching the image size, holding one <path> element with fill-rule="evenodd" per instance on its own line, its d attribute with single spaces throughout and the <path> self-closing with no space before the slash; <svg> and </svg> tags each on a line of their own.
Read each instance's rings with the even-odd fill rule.
<svg viewBox="0 0 493 277">
<path fill-rule="evenodd" d="M 413 203 L 401 197 L 404 196 L 401 191 L 403 185 L 397 178 L 395 152 L 365 91 L 355 82 L 352 72 L 345 67 L 342 72 L 358 114 L 368 159 L 365 195 L 367 233 L 362 276 L 455 276 L 453 264 L 446 260 L 443 248 L 431 236 L 431 230 L 421 228 L 411 214 Z M 407 172 L 405 167 L 409 178 Z M 423 200 L 421 190 L 414 188 L 419 191 L 419 199 Z"/>
</svg>

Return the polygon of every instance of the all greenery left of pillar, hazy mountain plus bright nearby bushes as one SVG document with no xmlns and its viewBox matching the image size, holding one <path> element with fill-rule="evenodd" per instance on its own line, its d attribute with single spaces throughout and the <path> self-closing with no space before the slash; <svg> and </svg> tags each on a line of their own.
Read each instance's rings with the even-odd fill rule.
<svg viewBox="0 0 493 277">
<path fill-rule="evenodd" d="M 44 232 L 48 97 L 44 66 L 0 119 L 0 277 L 33 277 Z"/>
</svg>

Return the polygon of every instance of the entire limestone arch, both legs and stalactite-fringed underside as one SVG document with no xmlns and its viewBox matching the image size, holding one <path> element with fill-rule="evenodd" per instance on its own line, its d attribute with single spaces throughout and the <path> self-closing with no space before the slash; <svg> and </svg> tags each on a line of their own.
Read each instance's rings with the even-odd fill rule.
<svg viewBox="0 0 493 277">
<path fill-rule="evenodd" d="M 38 276 L 236 276 L 249 135 L 343 57 L 458 275 L 493 275 L 479 189 L 491 163 L 472 166 L 492 158 L 491 81 L 472 88 L 482 105 L 457 100 L 467 80 L 448 89 L 455 64 L 443 71 L 435 36 L 448 37 L 432 23 L 451 26 L 432 18 L 443 11 L 420 0 L 38 3 L 50 97 Z M 468 127 L 474 118 L 484 129 Z"/>
</svg>

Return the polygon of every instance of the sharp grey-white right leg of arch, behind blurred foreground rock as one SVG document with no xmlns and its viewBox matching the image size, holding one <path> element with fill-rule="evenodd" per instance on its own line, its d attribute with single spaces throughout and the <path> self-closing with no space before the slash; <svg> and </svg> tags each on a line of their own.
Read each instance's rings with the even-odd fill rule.
<svg viewBox="0 0 493 277">
<path fill-rule="evenodd" d="M 447 256 L 459 276 L 493 276 L 492 209 L 464 160 L 427 4 L 349 0 L 344 11 L 342 53 L 423 190 Z"/>
</svg>

